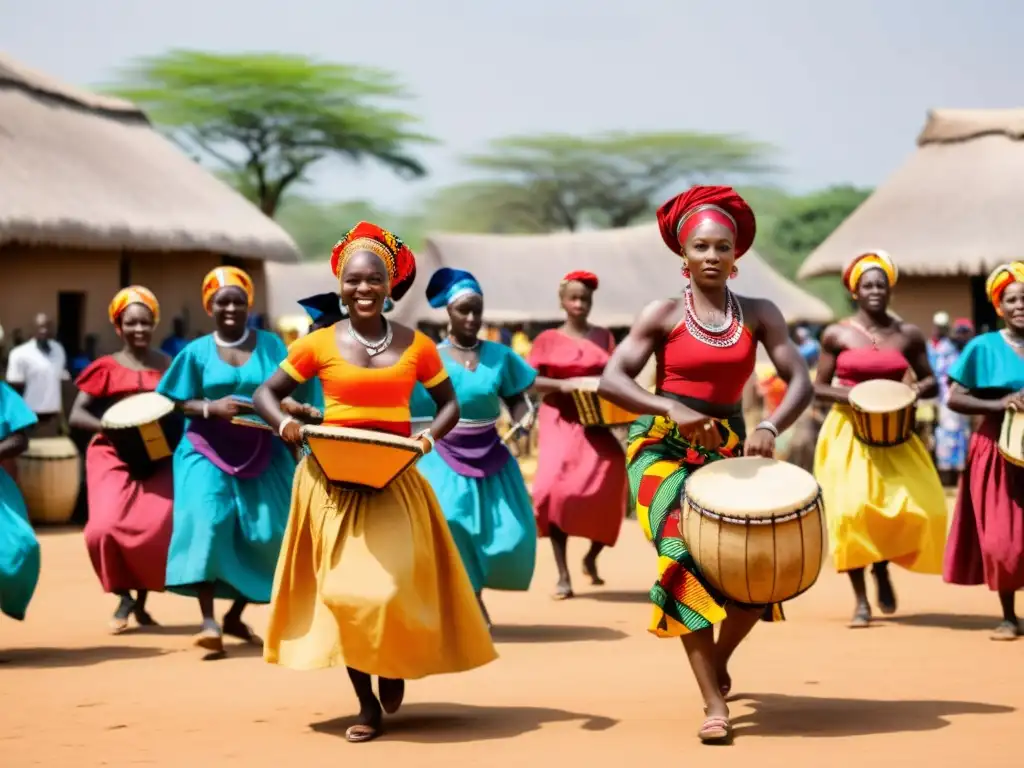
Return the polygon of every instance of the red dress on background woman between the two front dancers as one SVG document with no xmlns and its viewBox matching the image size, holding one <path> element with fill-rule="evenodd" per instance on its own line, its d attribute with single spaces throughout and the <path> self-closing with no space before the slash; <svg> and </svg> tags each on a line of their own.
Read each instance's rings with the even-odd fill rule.
<svg viewBox="0 0 1024 768">
<path fill-rule="evenodd" d="M 600 376 L 615 342 L 605 329 L 589 339 L 545 331 L 534 341 L 529 365 L 539 376 L 571 379 Z M 534 510 L 538 532 L 548 536 L 551 523 L 568 536 L 613 546 L 626 516 L 626 454 L 607 429 L 585 429 L 571 397 L 560 392 L 544 398 L 540 409 Z"/>
</svg>

